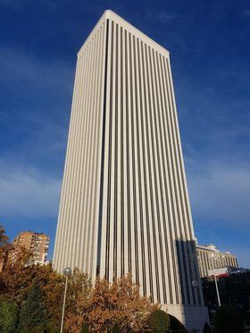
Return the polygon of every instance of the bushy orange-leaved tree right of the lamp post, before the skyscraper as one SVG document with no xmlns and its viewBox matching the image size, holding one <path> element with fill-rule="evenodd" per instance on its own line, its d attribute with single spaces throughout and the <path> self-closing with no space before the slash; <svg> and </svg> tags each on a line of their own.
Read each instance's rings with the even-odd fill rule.
<svg viewBox="0 0 250 333">
<path fill-rule="evenodd" d="M 158 307 L 140 296 L 130 275 L 112 283 L 98 278 L 89 295 L 79 298 L 76 311 L 68 314 L 65 328 L 78 332 L 82 322 L 87 322 L 90 332 L 112 331 L 114 325 L 121 332 L 142 330 L 147 327 L 147 316 Z"/>
</svg>

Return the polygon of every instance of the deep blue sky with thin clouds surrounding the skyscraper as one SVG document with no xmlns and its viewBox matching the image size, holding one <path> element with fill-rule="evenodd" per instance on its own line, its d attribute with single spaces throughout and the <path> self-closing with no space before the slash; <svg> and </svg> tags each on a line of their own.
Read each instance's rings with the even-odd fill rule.
<svg viewBox="0 0 250 333">
<path fill-rule="evenodd" d="M 250 267 L 250 3 L 0 0 L 0 223 L 54 233 L 76 53 L 105 9 L 171 52 L 196 237 Z"/>
</svg>

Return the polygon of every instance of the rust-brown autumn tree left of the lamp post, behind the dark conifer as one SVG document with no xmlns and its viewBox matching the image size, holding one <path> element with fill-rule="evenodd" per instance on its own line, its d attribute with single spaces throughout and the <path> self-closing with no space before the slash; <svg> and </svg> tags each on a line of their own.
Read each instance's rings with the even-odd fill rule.
<svg viewBox="0 0 250 333">
<path fill-rule="evenodd" d="M 4 228 L 1 230 L 0 235 L 4 235 Z M 34 280 L 37 279 L 44 293 L 44 303 L 47 309 L 46 329 L 50 333 L 57 333 L 61 324 L 65 279 L 61 274 L 53 271 L 52 265 L 27 266 L 29 252 L 21 246 L 13 246 L 8 243 L 7 237 L 1 237 L 1 239 L 0 254 L 4 253 L 5 259 L 4 271 L 0 273 L 0 297 L 14 301 L 21 309 L 29 296 Z M 78 285 L 78 281 L 75 281 L 74 290 L 71 290 L 72 297 L 76 294 L 76 285 Z M 70 284 L 69 287 L 71 287 Z M 71 300 L 72 303 L 73 300 Z"/>
</svg>

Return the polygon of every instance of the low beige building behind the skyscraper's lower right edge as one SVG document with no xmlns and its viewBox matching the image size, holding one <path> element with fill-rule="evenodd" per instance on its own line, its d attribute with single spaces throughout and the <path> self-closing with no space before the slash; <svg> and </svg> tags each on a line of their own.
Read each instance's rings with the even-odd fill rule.
<svg viewBox="0 0 250 333">
<path fill-rule="evenodd" d="M 196 245 L 198 265 L 201 278 L 208 277 L 209 271 L 222 267 L 237 268 L 237 258 L 229 252 L 220 252 L 216 246 L 210 244 L 208 246 Z"/>
</svg>

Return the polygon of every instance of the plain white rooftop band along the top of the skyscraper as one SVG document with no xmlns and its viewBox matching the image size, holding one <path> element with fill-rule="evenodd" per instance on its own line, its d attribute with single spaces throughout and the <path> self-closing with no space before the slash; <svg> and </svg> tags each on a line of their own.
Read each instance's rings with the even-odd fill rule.
<svg viewBox="0 0 250 333">
<path fill-rule="evenodd" d="M 94 37 L 95 32 L 97 30 L 97 28 L 99 27 L 99 25 L 101 25 L 101 23 L 104 20 L 112 20 L 115 21 L 117 23 L 123 23 L 126 24 L 127 29 L 130 33 L 136 33 L 137 36 L 139 36 L 142 40 L 146 39 L 146 43 L 150 44 L 154 47 L 154 49 L 157 49 L 157 51 L 159 53 L 161 53 L 162 55 L 166 56 L 169 58 L 170 55 L 170 51 L 168 51 L 166 48 L 164 48 L 163 46 L 161 46 L 160 44 L 154 42 L 154 40 L 151 37 L 146 36 L 146 34 L 144 32 L 142 32 L 141 30 L 137 29 L 136 27 L 134 27 L 131 23 L 129 23 L 128 21 L 125 21 L 124 19 L 122 19 L 121 16 L 119 16 L 117 13 L 112 12 L 110 9 L 107 9 L 104 11 L 103 15 L 101 16 L 101 18 L 99 19 L 99 21 L 97 21 L 96 26 L 94 27 L 94 29 L 91 30 L 91 32 L 89 33 L 87 39 L 85 40 L 85 42 L 83 43 L 83 45 L 79 48 L 79 52 L 77 54 L 78 58 L 79 56 L 82 54 L 82 50 L 84 48 L 85 45 L 87 45 L 88 41 Z"/>
</svg>

